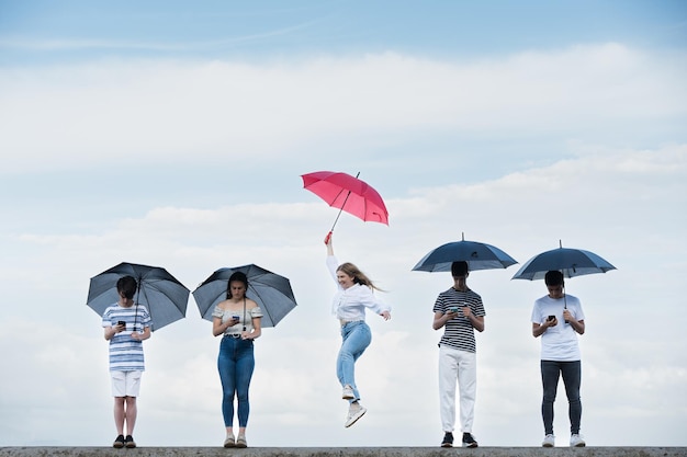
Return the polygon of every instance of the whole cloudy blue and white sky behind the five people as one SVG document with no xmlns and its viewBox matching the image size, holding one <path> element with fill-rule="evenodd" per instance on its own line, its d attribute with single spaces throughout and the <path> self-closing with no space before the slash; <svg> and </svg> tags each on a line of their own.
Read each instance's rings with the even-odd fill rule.
<svg viewBox="0 0 687 457">
<path fill-rule="evenodd" d="M 437 342 L 448 273 L 413 272 L 462 237 L 519 264 L 476 271 L 485 304 L 473 433 L 539 446 L 539 252 L 593 251 L 589 446 L 687 446 L 687 5 L 675 0 L 0 0 L 0 446 L 110 446 L 108 343 L 92 276 L 162 266 L 190 290 L 255 263 L 297 307 L 256 341 L 248 442 L 438 446 Z M 368 413 L 344 427 L 338 210 L 313 171 L 360 172 L 388 226 L 341 215 L 335 252 L 393 307 L 368 315 Z M 219 340 L 190 298 L 145 342 L 140 446 L 224 441 Z M 559 446 L 567 445 L 562 386 Z M 460 425 L 457 425 L 460 426 Z"/>
</svg>

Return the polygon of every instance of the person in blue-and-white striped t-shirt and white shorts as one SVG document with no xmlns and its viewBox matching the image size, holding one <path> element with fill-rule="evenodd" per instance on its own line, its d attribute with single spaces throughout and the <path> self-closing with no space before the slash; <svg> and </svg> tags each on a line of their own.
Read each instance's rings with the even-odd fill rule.
<svg viewBox="0 0 687 457">
<path fill-rule="evenodd" d="M 114 423 L 117 437 L 114 447 L 136 447 L 136 397 L 140 388 L 140 375 L 145 369 L 143 340 L 150 338 L 150 315 L 143 305 L 134 304 L 136 279 L 123 276 L 116 284 L 120 299 L 108 307 L 102 316 L 105 340 L 110 341 L 110 375 L 114 397 Z M 126 423 L 126 437 L 124 424 Z"/>
</svg>

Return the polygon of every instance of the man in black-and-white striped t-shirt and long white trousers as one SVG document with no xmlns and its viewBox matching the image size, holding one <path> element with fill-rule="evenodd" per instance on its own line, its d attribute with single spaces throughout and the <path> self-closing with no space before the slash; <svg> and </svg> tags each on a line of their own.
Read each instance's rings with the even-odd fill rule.
<svg viewBox="0 0 687 457">
<path fill-rule="evenodd" d="M 439 405 L 443 441 L 441 447 L 453 446 L 455 426 L 455 382 L 460 390 L 460 421 L 463 447 L 477 447 L 472 436 L 477 364 L 474 330 L 484 331 L 482 297 L 468 287 L 468 263 L 451 264 L 453 286 L 442 292 L 435 302 L 433 329 L 443 328 L 439 341 Z"/>
</svg>

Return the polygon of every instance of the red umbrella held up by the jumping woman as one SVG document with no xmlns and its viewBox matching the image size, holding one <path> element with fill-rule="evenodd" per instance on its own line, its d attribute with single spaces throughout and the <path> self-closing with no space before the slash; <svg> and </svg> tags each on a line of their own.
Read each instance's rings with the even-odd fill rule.
<svg viewBox="0 0 687 457">
<path fill-rule="evenodd" d="M 329 206 L 340 208 L 334 226 L 339 220 L 341 210 L 350 213 L 364 221 L 388 225 L 388 212 L 381 195 L 368 183 L 347 173 L 316 171 L 302 174 L 303 187 L 307 188 Z M 331 230 L 334 231 L 334 226 Z"/>
</svg>

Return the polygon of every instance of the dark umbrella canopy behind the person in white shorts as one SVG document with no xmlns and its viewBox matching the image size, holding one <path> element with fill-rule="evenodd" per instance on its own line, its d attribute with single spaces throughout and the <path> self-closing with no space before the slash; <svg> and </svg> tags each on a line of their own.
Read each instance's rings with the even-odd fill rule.
<svg viewBox="0 0 687 457">
<path fill-rule="evenodd" d="M 150 330 L 159 330 L 185 316 L 190 290 L 183 284 L 162 267 L 126 262 L 91 278 L 87 305 L 99 316 L 120 299 L 116 283 L 123 276 L 133 276 L 138 283 L 134 301 L 148 309 L 153 320 Z"/>
</svg>

